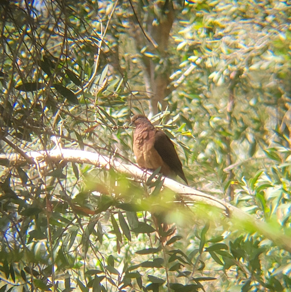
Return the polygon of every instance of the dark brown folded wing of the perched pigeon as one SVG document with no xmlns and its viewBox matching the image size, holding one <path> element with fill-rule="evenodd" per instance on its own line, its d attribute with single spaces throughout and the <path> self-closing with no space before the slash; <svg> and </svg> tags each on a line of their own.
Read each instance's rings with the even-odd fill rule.
<svg viewBox="0 0 291 292">
<path fill-rule="evenodd" d="M 182 169 L 182 163 L 170 138 L 162 131 L 156 130 L 154 147 L 162 160 L 188 185 Z"/>
</svg>

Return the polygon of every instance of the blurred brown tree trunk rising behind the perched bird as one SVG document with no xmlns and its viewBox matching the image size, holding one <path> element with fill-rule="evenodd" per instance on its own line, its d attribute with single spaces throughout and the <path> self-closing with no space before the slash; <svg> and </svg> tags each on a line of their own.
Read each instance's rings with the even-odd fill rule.
<svg viewBox="0 0 291 292">
<path fill-rule="evenodd" d="M 168 65 L 167 49 L 175 11 L 171 0 L 153 1 L 147 9 L 148 13 L 144 22 L 142 22 L 142 7 L 139 6 L 136 9 L 137 12 L 134 11 L 136 19 L 135 23 L 132 24 L 131 34 L 134 35 L 138 50 L 147 46 L 147 52 L 158 55 L 157 58 L 145 55 L 141 58 L 145 89 L 150 98 L 150 112 L 156 114 L 158 112 L 158 102 L 161 103 L 162 109 L 165 109 L 167 101 L 164 99 L 171 93 L 168 88 L 171 72 Z M 142 28 L 136 24 L 137 21 Z M 148 36 L 148 39 L 146 36 Z"/>
</svg>

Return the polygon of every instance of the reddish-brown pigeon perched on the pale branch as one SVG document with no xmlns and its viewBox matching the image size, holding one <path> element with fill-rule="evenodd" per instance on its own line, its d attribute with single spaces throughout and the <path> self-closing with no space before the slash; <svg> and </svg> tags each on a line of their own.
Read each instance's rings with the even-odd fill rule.
<svg viewBox="0 0 291 292">
<path fill-rule="evenodd" d="M 136 126 L 133 132 L 133 152 L 137 164 L 151 170 L 161 166 L 160 172 L 163 175 L 169 178 L 179 175 L 188 185 L 182 163 L 170 138 L 164 132 L 157 130 L 142 114 L 134 115 L 131 118 L 131 125 Z"/>
</svg>

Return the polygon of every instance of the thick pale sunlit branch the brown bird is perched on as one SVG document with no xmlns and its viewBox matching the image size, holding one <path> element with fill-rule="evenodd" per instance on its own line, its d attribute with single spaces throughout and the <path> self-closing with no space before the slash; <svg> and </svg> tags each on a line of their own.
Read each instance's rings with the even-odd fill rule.
<svg viewBox="0 0 291 292">
<path fill-rule="evenodd" d="M 151 175 L 151 172 L 143 171 L 135 165 L 124 164 L 112 158 L 90 151 L 59 148 L 50 151 L 28 152 L 26 153 L 25 158 L 27 159 L 28 157 L 31 157 L 34 161 L 46 159 L 53 159 L 57 161 L 66 160 L 77 163 L 92 164 L 100 168 L 114 168 L 121 173 L 125 173 L 128 176 L 140 180 L 144 180 Z M 0 154 L 0 161 L 7 161 L 7 159 L 9 159 L 10 164 L 13 162 L 25 160 L 22 155 L 17 153 L 7 155 Z M 250 215 L 225 201 L 197 191 L 192 187 L 182 185 L 170 178 L 164 178 L 164 187 L 167 187 L 173 192 L 179 194 L 184 201 L 191 203 L 199 202 L 224 211 L 227 214 L 227 217 L 231 219 L 232 223 L 238 229 L 246 229 L 248 232 L 250 232 L 250 230 L 251 232 L 258 232 L 259 234 L 262 234 L 266 238 L 272 240 L 277 246 L 280 246 L 286 251 L 291 252 L 291 237 L 283 234 L 282 226 L 277 222 L 272 221 L 268 223 L 260 221 L 255 218 L 254 215 Z"/>
</svg>

